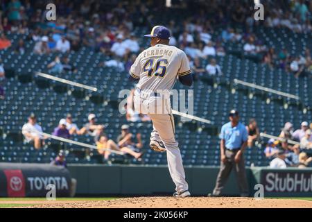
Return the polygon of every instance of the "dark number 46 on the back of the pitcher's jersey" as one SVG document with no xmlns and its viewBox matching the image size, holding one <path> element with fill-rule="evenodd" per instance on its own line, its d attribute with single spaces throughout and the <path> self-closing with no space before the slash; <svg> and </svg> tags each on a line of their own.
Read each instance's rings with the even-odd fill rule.
<svg viewBox="0 0 312 222">
<path fill-rule="evenodd" d="M 155 65 L 154 65 L 155 64 Z M 144 74 L 147 73 L 149 77 L 157 76 L 164 77 L 166 75 L 166 66 L 168 65 L 168 60 L 159 58 L 150 58 L 144 65 Z"/>
</svg>

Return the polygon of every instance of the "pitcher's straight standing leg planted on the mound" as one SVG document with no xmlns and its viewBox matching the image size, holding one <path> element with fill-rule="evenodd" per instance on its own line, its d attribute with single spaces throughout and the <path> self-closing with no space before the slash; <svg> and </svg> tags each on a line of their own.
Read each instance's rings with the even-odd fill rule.
<svg viewBox="0 0 312 222">
<path fill-rule="evenodd" d="M 182 164 L 182 156 L 178 144 L 175 141 L 173 118 L 170 114 L 150 114 L 155 130 L 164 142 L 167 153 L 168 168 L 176 191 L 181 193 L 189 189 L 185 180 L 185 173 Z"/>
</svg>

